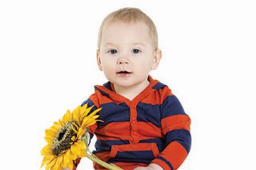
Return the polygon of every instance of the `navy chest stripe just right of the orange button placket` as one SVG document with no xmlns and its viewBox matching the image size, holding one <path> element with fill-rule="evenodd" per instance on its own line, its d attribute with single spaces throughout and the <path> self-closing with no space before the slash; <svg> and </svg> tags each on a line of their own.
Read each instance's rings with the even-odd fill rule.
<svg viewBox="0 0 256 170">
<path fill-rule="evenodd" d="M 150 122 L 161 127 L 161 107 L 159 105 L 151 105 L 148 103 L 139 103 L 137 106 L 137 120 L 142 122 Z"/>
</svg>

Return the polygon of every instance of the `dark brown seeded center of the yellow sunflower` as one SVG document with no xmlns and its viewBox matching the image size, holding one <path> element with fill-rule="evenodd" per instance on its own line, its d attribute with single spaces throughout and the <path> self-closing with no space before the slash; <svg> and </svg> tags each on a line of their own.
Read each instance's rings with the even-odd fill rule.
<svg viewBox="0 0 256 170">
<path fill-rule="evenodd" d="M 75 137 L 78 135 L 80 125 L 77 121 L 72 120 L 66 123 L 63 128 L 59 130 L 52 143 L 52 152 L 59 156 L 66 150 L 70 149 L 75 142 Z"/>
</svg>

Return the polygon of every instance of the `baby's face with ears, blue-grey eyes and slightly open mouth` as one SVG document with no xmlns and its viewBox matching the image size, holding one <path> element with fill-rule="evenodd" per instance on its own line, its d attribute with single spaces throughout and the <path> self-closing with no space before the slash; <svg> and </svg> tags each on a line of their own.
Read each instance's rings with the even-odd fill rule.
<svg viewBox="0 0 256 170">
<path fill-rule="evenodd" d="M 142 22 L 111 23 L 102 31 L 97 62 L 115 86 L 147 84 L 149 72 L 158 67 L 160 59 L 161 51 L 153 47 L 148 28 Z"/>
</svg>

